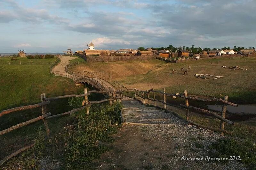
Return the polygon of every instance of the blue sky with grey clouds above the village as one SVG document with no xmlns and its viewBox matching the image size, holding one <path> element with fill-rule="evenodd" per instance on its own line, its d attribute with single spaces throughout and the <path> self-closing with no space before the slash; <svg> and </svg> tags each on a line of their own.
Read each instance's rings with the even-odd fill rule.
<svg viewBox="0 0 256 170">
<path fill-rule="evenodd" d="M 0 53 L 254 47 L 256 0 L 0 0 Z"/>
</svg>

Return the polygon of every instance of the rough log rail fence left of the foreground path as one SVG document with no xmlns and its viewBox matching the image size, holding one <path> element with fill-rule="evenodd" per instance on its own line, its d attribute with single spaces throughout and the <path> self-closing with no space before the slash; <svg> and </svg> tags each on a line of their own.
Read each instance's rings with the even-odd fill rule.
<svg viewBox="0 0 256 170">
<path fill-rule="evenodd" d="M 31 124 L 33 122 L 37 122 L 39 120 L 43 120 L 45 130 L 46 130 L 46 134 L 47 134 L 47 136 L 49 136 L 50 135 L 50 129 L 49 129 L 49 126 L 48 126 L 47 119 L 56 118 L 56 117 L 60 117 L 60 116 L 64 116 L 64 115 L 69 115 L 71 113 L 75 113 L 75 112 L 77 112 L 79 110 L 83 110 L 83 109 L 86 109 L 86 114 L 89 115 L 89 110 L 90 110 L 90 107 L 91 107 L 92 104 L 98 104 L 98 103 L 103 103 L 103 102 L 108 101 L 109 104 L 112 105 L 112 101 L 115 102 L 116 100 L 121 100 L 122 99 L 122 93 L 120 91 L 114 91 L 114 90 L 106 90 L 106 91 L 92 90 L 92 91 L 87 91 L 87 90 L 88 89 L 85 87 L 84 88 L 84 94 L 71 94 L 71 95 L 49 97 L 49 98 L 47 98 L 45 93 L 43 93 L 43 94 L 41 94 L 41 103 L 37 103 L 37 104 L 34 104 L 34 105 L 14 107 L 14 108 L 10 108 L 10 109 L 1 111 L 0 112 L 0 117 L 3 116 L 3 115 L 6 115 L 6 114 L 16 112 L 16 111 L 28 110 L 28 109 L 41 107 L 42 115 L 38 116 L 36 118 L 33 118 L 31 120 L 28 120 L 26 122 L 21 122 L 17 125 L 14 125 L 14 126 L 10 127 L 10 128 L 4 129 L 4 130 L 0 131 L 0 136 L 6 134 L 8 132 L 11 132 L 12 130 L 15 130 L 15 129 L 21 128 L 23 126 L 26 126 L 28 124 Z M 100 100 L 100 101 L 89 101 L 88 96 L 91 93 L 108 94 L 109 98 L 104 99 L 104 100 Z M 47 109 L 46 107 L 47 107 L 48 104 L 51 103 L 52 100 L 58 100 L 58 99 L 70 98 L 70 97 L 84 97 L 84 101 L 82 102 L 82 107 L 75 108 L 75 109 L 70 110 L 68 112 L 64 112 L 64 113 L 57 114 L 57 115 L 52 115 L 51 112 L 46 113 L 46 109 Z M 20 152 L 23 152 L 26 149 L 29 149 L 33 146 L 34 146 L 34 144 L 23 147 L 23 148 L 19 149 L 18 151 L 12 153 L 11 155 L 5 157 L 3 160 L 0 161 L 0 166 L 2 164 L 4 164 L 4 162 L 6 162 L 8 159 L 11 159 L 12 157 L 16 156 Z"/>
</svg>

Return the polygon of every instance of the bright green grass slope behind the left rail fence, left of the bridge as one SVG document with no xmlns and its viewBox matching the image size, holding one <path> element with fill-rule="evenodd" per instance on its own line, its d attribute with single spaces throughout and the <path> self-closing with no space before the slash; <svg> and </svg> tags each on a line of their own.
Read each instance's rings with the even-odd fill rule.
<svg viewBox="0 0 256 170">
<path fill-rule="evenodd" d="M 7 59 L 0 58 L 2 60 Z M 52 62 L 55 60 L 56 58 L 51 59 Z M 50 97 L 76 93 L 78 89 L 71 79 L 51 75 L 49 65 L 0 63 L 0 83 L 0 110 L 38 103 L 42 93 Z"/>
</svg>

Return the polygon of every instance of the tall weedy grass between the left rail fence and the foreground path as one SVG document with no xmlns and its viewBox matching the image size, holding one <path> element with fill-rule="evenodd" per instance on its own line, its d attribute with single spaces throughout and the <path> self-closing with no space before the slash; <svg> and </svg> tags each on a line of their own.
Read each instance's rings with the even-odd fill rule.
<svg viewBox="0 0 256 170">
<path fill-rule="evenodd" d="M 80 100 L 77 101 L 80 103 Z M 53 159 L 60 163 L 58 169 L 94 169 L 93 160 L 108 150 L 108 147 L 99 144 L 99 141 L 113 142 L 111 135 L 116 133 L 119 127 L 121 107 L 118 102 L 112 106 L 96 104 L 90 108 L 89 115 L 85 114 L 85 110 L 81 110 L 54 119 L 50 125 L 55 123 L 55 129 L 47 140 L 44 140 L 44 129 L 37 128 L 34 139 L 36 145 L 8 161 L 2 168 L 42 168 L 40 160 L 47 156 L 50 158 L 47 164 L 52 163 Z M 77 126 L 73 129 L 63 129 L 64 123 L 77 123 Z"/>
</svg>

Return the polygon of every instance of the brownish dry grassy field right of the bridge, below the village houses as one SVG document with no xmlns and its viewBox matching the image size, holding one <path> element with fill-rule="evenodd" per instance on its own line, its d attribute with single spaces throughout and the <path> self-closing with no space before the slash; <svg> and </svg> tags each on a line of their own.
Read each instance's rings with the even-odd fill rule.
<svg viewBox="0 0 256 170">
<path fill-rule="evenodd" d="M 245 70 L 231 70 L 222 66 L 239 66 Z M 191 67 L 184 76 L 181 67 Z M 166 92 L 199 96 L 229 96 L 229 100 L 241 103 L 256 102 L 255 58 L 209 58 L 182 63 L 165 63 L 159 60 L 143 62 L 86 63 L 74 70 L 104 71 L 128 88 L 149 90 L 166 87 Z M 172 74 L 172 69 L 176 70 Z M 196 78 L 193 74 L 224 76 L 213 80 Z"/>
</svg>

